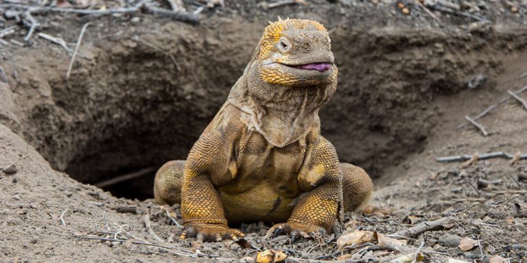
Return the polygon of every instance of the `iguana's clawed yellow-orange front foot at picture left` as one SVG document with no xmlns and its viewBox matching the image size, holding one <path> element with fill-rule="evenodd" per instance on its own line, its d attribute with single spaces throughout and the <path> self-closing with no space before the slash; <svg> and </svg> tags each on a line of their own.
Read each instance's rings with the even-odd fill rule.
<svg viewBox="0 0 527 263">
<path fill-rule="evenodd" d="M 181 232 L 181 239 L 194 238 L 199 242 L 220 242 L 224 239 L 237 240 L 244 237 L 242 231 L 229 228 L 224 224 L 189 223 Z"/>
</svg>

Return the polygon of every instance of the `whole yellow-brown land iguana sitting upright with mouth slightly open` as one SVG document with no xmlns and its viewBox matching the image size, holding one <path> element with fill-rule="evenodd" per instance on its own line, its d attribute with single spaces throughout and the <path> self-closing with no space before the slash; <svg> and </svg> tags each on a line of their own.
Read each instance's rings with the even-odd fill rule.
<svg viewBox="0 0 527 263">
<path fill-rule="evenodd" d="M 229 224 L 277 223 L 309 238 L 329 234 L 342 210 L 364 208 L 373 190 L 358 166 L 339 164 L 320 136 L 318 110 L 337 88 L 329 34 L 315 21 L 266 27 L 244 74 L 186 161 L 156 173 L 157 203 L 181 203 L 181 238 L 220 241 L 244 234 Z"/>
</svg>

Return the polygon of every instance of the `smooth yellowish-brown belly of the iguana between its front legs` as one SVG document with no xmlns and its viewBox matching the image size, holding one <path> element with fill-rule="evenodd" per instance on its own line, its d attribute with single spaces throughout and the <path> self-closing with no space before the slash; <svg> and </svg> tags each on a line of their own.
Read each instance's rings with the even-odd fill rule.
<svg viewBox="0 0 527 263">
<path fill-rule="evenodd" d="M 220 188 L 220 199 L 227 221 L 229 223 L 287 221 L 293 210 L 293 207 L 288 205 L 294 198 L 283 197 L 275 189 L 266 179 L 240 193 L 233 194 Z"/>
</svg>

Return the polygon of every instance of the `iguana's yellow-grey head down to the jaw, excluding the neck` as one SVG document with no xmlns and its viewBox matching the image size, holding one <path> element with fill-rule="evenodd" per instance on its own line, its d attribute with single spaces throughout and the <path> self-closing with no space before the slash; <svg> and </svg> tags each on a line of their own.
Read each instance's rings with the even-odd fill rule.
<svg viewBox="0 0 527 263">
<path fill-rule="evenodd" d="M 307 86 L 336 81 L 329 34 L 325 27 L 303 19 L 270 23 L 257 53 L 259 76 L 281 86 Z"/>
</svg>

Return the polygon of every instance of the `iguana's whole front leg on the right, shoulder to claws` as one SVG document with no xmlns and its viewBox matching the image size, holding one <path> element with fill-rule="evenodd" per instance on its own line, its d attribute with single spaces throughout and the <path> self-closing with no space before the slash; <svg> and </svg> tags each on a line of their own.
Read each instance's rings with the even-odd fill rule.
<svg viewBox="0 0 527 263">
<path fill-rule="evenodd" d="M 306 155 L 305 166 L 298 175 L 298 187 L 307 190 L 300 197 L 287 223 L 271 227 L 266 236 L 277 236 L 281 231 L 309 238 L 331 231 L 334 220 L 342 212 L 342 171 L 336 151 L 320 137 L 314 150 Z"/>
</svg>

